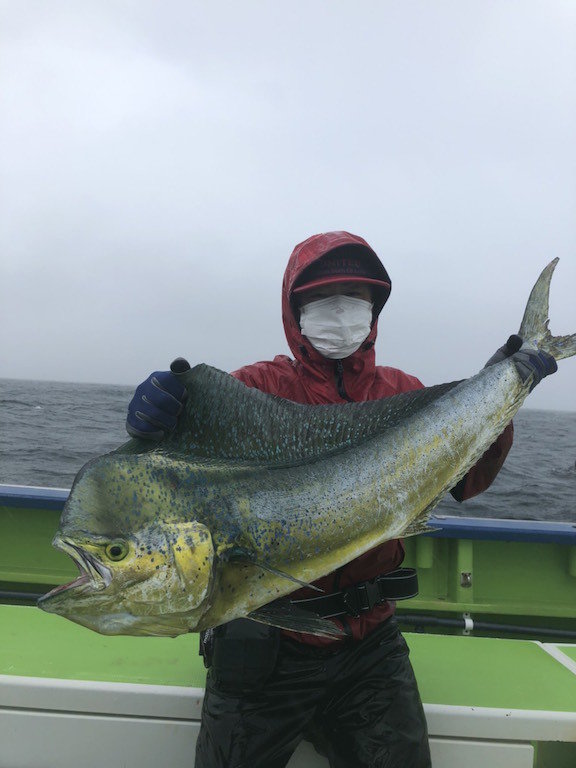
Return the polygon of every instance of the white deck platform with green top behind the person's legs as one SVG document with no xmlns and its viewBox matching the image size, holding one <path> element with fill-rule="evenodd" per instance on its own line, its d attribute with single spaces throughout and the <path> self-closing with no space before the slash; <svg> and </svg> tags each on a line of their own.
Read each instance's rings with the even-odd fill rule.
<svg viewBox="0 0 576 768">
<path fill-rule="evenodd" d="M 80 745 L 86 755 L 92 743 L 100 749 L 93 758 L 88 750 L 87 768 L 100 764 L 104 744 L 127 768 L 190 763 L 205 680 L 197 635 L 103 637 L 10 605 L 0 606 L 0 626 L 1 765 L 72 768 Z M 406 639 L 435 765 L 457 765 L 457 751 L 467 744 L 475 745 L 469 768 L 488 760 L 527 768 L 538 750 L 539 766 L 575 764 L 575 645 L 410 633 Z M 310 745 L 290 762 L 325 765 Z"/>
</svg>

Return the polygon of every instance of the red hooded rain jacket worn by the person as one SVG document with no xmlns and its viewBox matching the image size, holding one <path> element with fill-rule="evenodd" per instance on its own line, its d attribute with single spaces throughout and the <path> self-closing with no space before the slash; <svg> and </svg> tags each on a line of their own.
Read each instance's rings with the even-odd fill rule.
<svg viewBox="0 0 576 768">
<path fill-rule="evenodd" d="M 360 237 L 348 232 L 328 232 L 314 235 L 294 249 L 282 285 L 282 319 L 286 338 L 294 359 L 278 355 L 271 361 L 247 365 L 233 373 L 249 387 L 255 387 L 272 395 L 279 395 L 297 403 L 326 404 L 344 403 L 350 400 L 378 400 L 421 389 L 424 385 L 414 376 L 397 368 L 377 366 L 374 342 L 377 334 L 377 316 L 372 330 L 358 349 L 342 361 L 322 357 L 300 332 L 298 310 L 292 303 L 292 290 L 302 271 L 311 266 L 328 251 L 343 245 L 357 245 L 370 249 Z M 371 249 L 370 249 L 371 251 Z M 373 253 L 373 252 L 372 252 Z M 376 255 L 374 257 L 377 259 Z M 388 274 L 378 260 L 384 280 Z M 381 306 L 375 306 L 377 315 Z M 485 491 L 498 474 L 504 459 L 512 446 L 513 427 L 510 424 L 496 442 L 486 451 L 482 459 L 458 483 L 452 495 L 463 501 Z M 351 563 L 337 569 L 315 582 L 326 594 L 344 589 L 397 568 L 404 559 L 402 541 L 395 539 L 365 552 Z M 312 590 L 298 590 L 298 597 L 315 597 Z M 371 612 L 359 618 L 347 617 L 341 625 L 348 636 L 360 639 L 369 634 L 376 625 L 394 612 L 392 602 L 376 606 Z M 316 637 L 308 634 L 287 633 L 293 639 L 313 645 L 326 645 L 338 640 Z"/>
</svg>

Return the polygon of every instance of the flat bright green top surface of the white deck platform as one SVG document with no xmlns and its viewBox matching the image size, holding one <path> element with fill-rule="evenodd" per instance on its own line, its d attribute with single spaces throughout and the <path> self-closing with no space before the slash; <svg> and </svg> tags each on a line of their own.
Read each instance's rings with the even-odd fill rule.
<svg viewBox="0 0 576 768">
<path fill-rule="evenodd" d="M 527 640 L 406 634 L 425 703 L 576 710 L 576 675 Z M 103 637 L 36 608 L 0 606 L 0 674 L 203 687 L 197 635 Z M 576 660 L 575 646 L 560 650 Z"/>
</svg>

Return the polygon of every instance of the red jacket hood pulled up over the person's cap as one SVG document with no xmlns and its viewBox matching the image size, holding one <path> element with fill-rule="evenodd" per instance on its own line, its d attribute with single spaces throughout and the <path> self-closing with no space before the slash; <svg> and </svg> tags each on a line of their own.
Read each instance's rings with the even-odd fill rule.
<svg viewBox="0 0 576 768">
<path fill-rule="evenodd" d="M 312 235 L 304 242 L 299 243 L 288 260 L 288 265 L 284 273 L 282 282 L 282 321 L 284 323 L 284 332 L 292 354 L 307 368 L 318 369 L 333 366 L 333 360 L 327 360 L 310 344 L 300 331 L 299 312 L 297 302 L 294 299 L 294 288 L 302 281 L 306 270 L 315 264 L 319 259 L 330 251 L 337 248 L 354 248 L 362 253 L 362 257 L 369 259 L 372 264 L 373 276 L 385 283 L 392 285 L 388 272 L 382 262 L 368 245 L 368 243 L 358 235 L 352 235 L 350 232 L 324 232 L 319 235 Z M 350 367 L 364 368 L 365 366 L 374 367 L 374 343 L 377 336 L 378 315 L 382 307 L 388 300 L 390 290 L 382 290 L 376 293 L 374 301 L 373 315 L 374 320 L 372 329 L 362 346 L 349 358 L 344 361 Z M 357 372 L 360 372 L 359 370 Z"/>
</svg>

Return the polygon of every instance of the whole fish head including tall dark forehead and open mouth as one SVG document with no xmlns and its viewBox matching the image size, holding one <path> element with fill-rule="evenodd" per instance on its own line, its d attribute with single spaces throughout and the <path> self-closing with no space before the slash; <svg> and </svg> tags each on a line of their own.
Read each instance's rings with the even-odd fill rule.
<svg viewBox="0 0 576 768">
<path fill-rule="evenodd" d="M 178 635 L 208 608 L 210 530 L 194 518 L 175 462 L 107 454 L 78 473 L 53 541 L 78 577 L 39 601 L 102 634 Z"/>
</svg>

